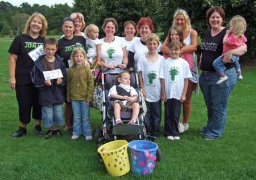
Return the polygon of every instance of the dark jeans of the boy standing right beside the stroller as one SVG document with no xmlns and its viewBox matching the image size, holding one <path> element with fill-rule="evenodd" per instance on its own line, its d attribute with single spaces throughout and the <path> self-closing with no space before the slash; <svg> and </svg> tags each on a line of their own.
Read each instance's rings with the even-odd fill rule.
<svg viewBox="0 0 256 180">
<path fill-rule="evenodd" d="M 147 113 L 144 117 L 145 127 L 147 133 L 159 136 L 161 114 L 162 114 L 162 103 L 161 100 L 156 102 L 147 102 Z"/>
</svg>

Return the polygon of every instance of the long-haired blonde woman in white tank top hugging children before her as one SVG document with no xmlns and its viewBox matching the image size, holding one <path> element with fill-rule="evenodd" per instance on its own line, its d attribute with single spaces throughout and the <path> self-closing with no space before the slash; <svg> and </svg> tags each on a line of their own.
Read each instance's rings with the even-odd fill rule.
<svg viewBox="0 0 256 180">
<path fill-rule="evenodd" d="M 192 92 L 196 90 L 198 83 L 197 75 L 197 58 L 195 52 L 197 50 L 197 32 L 191 28 L 191 22 L 189 16 L 185 10 L 178 9 L 174 14 L 174 20 L 172 26 L 177 25 L 182 28 L 183 42 L 185 46 L 181 49 L 181 54 L 193 53 L 193 66 L 191 66 L 191 73 L 193 78 L 188 80 L 188 89 L 186 93 L 186 100 L 183 102 L 183 123 L 179 123 L 179 131 L 184 132 L 188 130 L 189 115 L 191 113 L 191 96 Z M 167 37 L 162 46 L 162 52 L 165 54 L 170 53 L 168 44 L 170 38 Z"/>
</svg>

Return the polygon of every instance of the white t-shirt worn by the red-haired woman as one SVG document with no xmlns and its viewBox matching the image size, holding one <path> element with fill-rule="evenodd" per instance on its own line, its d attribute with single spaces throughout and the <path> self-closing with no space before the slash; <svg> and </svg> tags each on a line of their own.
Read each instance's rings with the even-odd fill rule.
<svg viewBox="0 0 256 180">
<path fill-rule="evenodd" d="M 162 46 L 162 44 L 160 43 L 158 45 L 158 53 L 161 51 L 161 46 Z M 147 54 L 148 53 L 147 46 L 143 45 L 141 43 L 141 38 L 136 38 L 133 41 L 133 44 L 131 44 L 129 46 L 128 50 L 130 52 L 134 53 L 135 68 L 137 68 L 137 62 L 138 62 L 139 57 L 141 57 L 141 55 L 143 55 L 143 54 Z"/>
</svg>

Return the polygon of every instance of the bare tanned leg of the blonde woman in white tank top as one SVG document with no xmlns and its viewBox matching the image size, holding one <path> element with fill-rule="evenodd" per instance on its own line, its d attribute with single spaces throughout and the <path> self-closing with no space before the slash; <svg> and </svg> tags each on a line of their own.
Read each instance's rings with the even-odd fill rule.
<svg viewBox="0 0 256 180">
<path fill-rule="evenodd" d="M 191 80 L 188 81 L 188 89 L 186 93 L 186 100 L 183 102 L 183 122 L 188 123 L 189 115 L 191 113 L 191 96 L 193 90 L 195 90 L 196 84 L 191 82 Z"/>
</svg>

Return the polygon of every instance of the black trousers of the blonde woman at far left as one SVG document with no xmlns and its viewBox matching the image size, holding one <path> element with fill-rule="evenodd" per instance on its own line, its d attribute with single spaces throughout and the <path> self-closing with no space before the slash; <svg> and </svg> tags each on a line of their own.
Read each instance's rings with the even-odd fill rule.
<svg viewBox="0 0 256 180">
<path fill-rule="evenodd" d="M 16 98 L 19 105 L 19 121 L 30 123 L 31 108 L 32 118 L 42 119 L 42 106 L 38 104 L 39 90 L 33 84 L 16 85 Z"/>
</svg>

